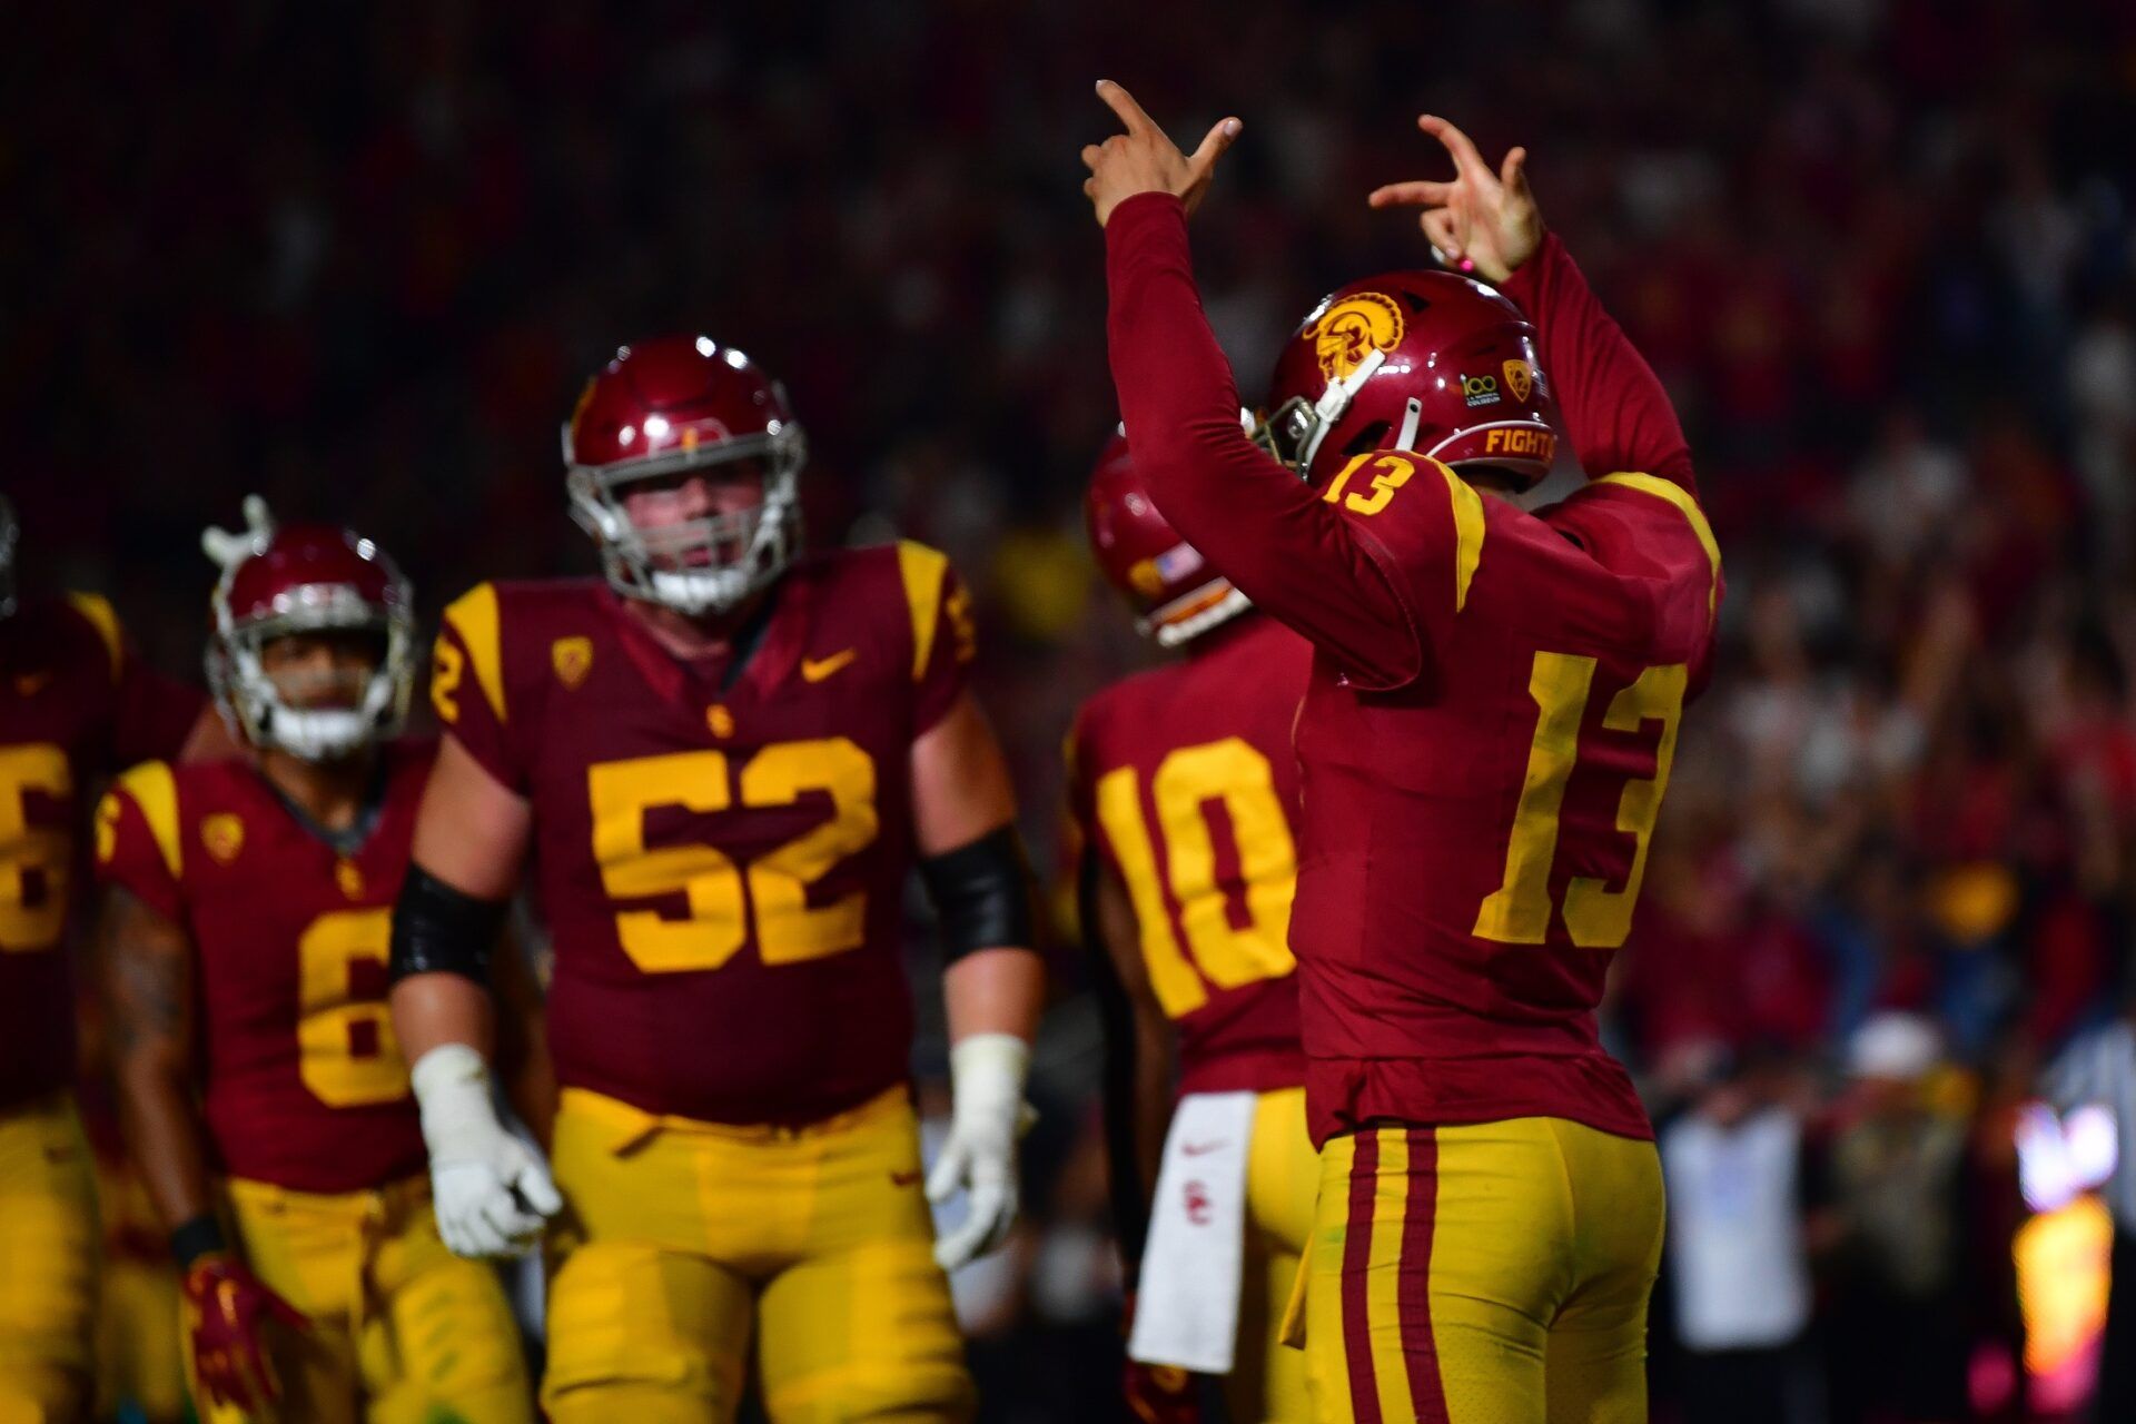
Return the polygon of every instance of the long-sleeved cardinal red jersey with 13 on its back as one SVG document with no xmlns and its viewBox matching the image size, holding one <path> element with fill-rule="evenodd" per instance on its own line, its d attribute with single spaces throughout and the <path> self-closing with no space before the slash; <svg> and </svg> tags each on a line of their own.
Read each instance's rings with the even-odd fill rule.
<svg viewBox="0 0 2136 1424">
<path fill-rule="evenodd" d="M 1314 1140 L 1514 1117 L 1651 1136 L 1596 1006 L 1722 596 L 1653 371 L 1546 237 L 1506 290 L 1596 478 L 1527 512 L 1363 450 L 1314 487 L 1239 433 L 1179 201 L 1121 203 L 1106 263 L 1136 470 L 1314 643 L 1290 916 Z"/>
</svg>

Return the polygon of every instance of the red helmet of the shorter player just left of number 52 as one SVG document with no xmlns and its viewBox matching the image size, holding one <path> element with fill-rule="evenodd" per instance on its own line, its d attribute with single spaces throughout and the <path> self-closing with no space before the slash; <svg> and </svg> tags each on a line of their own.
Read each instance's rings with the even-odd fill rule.
<svg viewBox="0 0 2136 1424">
<path fill-rule="evenodd" d="M 209 529 L 201 544 L 222 564 L 211 598 L 207 685 L 222 719 L 254 747 L 331 762 L 384 741 L 408 719 L 414 690 L 414 598 L 384 549 L 333 525 L 276 527 L 246 500 L 241 534 Z M 382 643 L 355 707 L 290 707 L 261 651 L 297 632 L 376 634 Z"/>
</svg>

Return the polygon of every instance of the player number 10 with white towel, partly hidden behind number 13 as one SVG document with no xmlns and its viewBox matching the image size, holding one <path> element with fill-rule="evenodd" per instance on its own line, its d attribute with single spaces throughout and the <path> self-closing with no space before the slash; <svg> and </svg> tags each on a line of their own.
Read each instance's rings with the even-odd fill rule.
<svg viewBox="0 0 2136 1424">
<path fill-rule="evenodd" d="M 1124 436 L 1083 510 L 1136 630 L 1183 653 L 1091 696 L 1068 739 L 1113 1202 L 1141 1281 L 1128 1398 L 1147 1420 L 1188 1418 L 1181 1371 L 1203 1371 L 1226 1377 L 1239 1424 L 1301 1422 L 1305 1360 L 1277 1326 L 1320 1172 L 1288 946 L 1290 722 L 1312 645 L 1179 538 Z"/>
</svg>

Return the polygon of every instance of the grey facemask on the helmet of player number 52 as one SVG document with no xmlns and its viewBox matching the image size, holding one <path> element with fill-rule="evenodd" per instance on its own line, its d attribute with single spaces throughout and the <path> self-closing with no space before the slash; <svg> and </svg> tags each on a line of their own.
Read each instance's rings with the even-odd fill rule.
<svg viewBox="0 0 2136 1424">
<path fill-rule="evenodd" d="M 570 463 L 570 517 L 600 547 L 609 585 L 684 615 L 726 613 L 771 587 L 801 544 L 801 465 L 807 442 L 795 423 L 773 423 L 760 436 L 688 442 L 651 459 L 615 465 Z M 754 508 L 705 515 L 662 525 L 630 519 L 628 497 L 651 482 L 692 472 L 754 461 L 763 472 L 763 500 Z"/>
</svg>

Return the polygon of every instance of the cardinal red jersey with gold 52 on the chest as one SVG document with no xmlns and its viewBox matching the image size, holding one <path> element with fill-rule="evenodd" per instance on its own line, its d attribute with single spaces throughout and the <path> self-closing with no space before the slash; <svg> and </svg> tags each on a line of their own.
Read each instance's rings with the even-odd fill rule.
<svg viewBox="0 0 2136 1424">
<path fill-rule="evenodd" d="M 438 717 L 534 809 L 564 1087 L 805 1123 L 906 1078 L 910 754 L 963 687 L 970 606 L 908 542 L 814 553 L 758 617 L 733 673 L 594 581 L 446 611 Z"/>
</svg>

